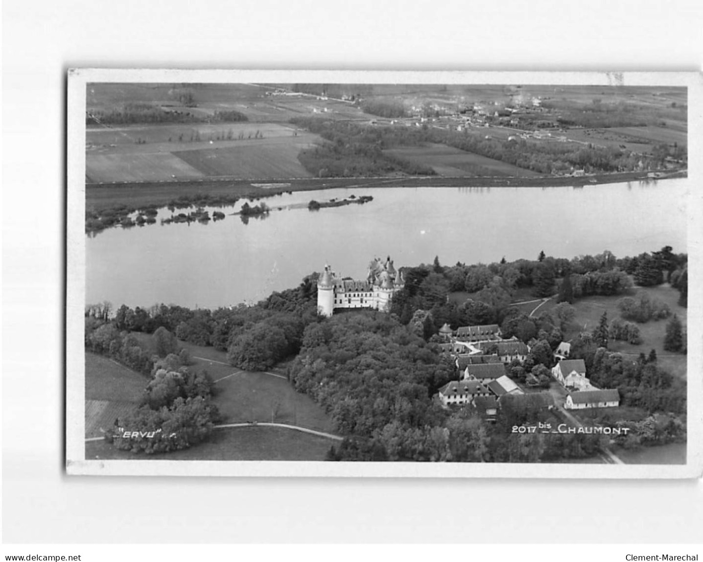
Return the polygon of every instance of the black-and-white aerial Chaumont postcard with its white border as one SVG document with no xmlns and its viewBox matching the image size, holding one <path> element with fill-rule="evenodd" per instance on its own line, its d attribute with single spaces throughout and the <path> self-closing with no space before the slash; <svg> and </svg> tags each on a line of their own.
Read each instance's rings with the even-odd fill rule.
<svg viewBox="0 0 703 562">
<path fill-rule="evenodd" d="M 441 77 L 69 72 L 70 473 L 700 470 L 699 75 Z"/>
</svg>

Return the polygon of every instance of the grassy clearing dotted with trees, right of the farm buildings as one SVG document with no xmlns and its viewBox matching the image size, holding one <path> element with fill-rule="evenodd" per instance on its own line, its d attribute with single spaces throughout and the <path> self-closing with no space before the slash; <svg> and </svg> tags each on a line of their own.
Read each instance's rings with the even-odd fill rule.
<svg viewBox="0 0 703 562">
<path fill-rule="evenodd" d="M 657 298 L 666 302 L 672 314 L 677 314 L 685 328 L 686 309 L 677 304 L 678 290 L 671 288 L 668 284 L 658 287 L 638 287 L 631 291 L 632 295 L 643 291 L 652 298 Z M 580 331 L 593 331 L 598 326 L 598 321 L 603 312 L 607 312 L 608 323 L 616 318 L 620 318 L 620 311 L 616 303 L 624 295 L 601 297 L 586 297 L 574 302 L 576 317 L 572 324 L 565 330 L 565 340 L 574 338 Z M 540 309 L 541 310 L 541 309 Z M 657 352 L 657 362 L 663 369 L 670 371 L 674 376 L 686 377 L 686 356 L 664 350 L 664 336 L 666 334 L 666 324 L 668 320 L 650 320 L 645 324 L 637 324 L 643 339 L 641 345 L 632 345 L 623 341 L 611 341 L 608 348 L 611 351 L 621 352 L 630 359 L 636 358 L 640 353 L 649 354 L 654 349 Z"/>
</svg>

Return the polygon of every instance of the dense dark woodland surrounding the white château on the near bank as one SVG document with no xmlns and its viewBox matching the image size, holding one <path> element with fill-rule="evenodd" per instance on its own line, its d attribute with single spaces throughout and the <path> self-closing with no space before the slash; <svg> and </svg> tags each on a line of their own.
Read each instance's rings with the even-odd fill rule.
<svg viewBox="0 0 703 562">
<path fill-rule="evenodd" d="M 652 267 L 661 276 L 650 276 Z M 445 322 L 452 328 L 500 324 L 503 337 L 516 336 L 531 346 L 527 360 L 505 366 L 506 374 L 538 388 L 550 383 L 553 351 L 574 318 L 571 303 L 586 295 L 623 295 L 622 317 L 609 324 L 604 314 L 593 332 L 572 340 L 571 357 L 584 359 L 595 385 L 617 388 L 622 405 L 658 416 L 652 422 L 658 429 L 649 438 L 628 444 L 678 440 L 685 435 L 685 381 L 660 368 L 653 351 L 632 361 L 607 348 L 610 340 L 637 343 L 638 324 L 668 318 L 667 345 L 685 352 L 681 322 L 671 311 L 652 298 L 630 295 L 630 275 L 637 278 L 638 272 L 652 283 L 670 281 L 685 305 L 687 256 L 673 254 L 668 246 L 625 258 L 607 251 L 572 260 L 540 253 L 536 260 L 468 266 L 442 266 L 435 258 L 433 264 L 403 269 L 406 286 L 394 295 L 390 314 L 349 311 L 321 317 L 318 274 L 311 274 L 297 288 L 273 293 L 251 307 L 123 305 L 113 311 L 109 303 L 93 305 L 86 308 L 86 348 L 151 377 L 144 406 L 128 420 L 132 426 L 153 430 L 174 419 L 168 427 L 180 429 L 169 429 L 169 435 L 187 435 L 185 441 L 163 440 L 161 448 L 147 452 L 198 442 L 217 418 L 208 402 L 212 385 L 202 373 L 188 372 L 187 357 L 178 355 L 178 338 L 224 350 L 233 366 L 250 371 L 292 359 L 287 367 L 291 383 L 321 404 L 346 436 L 340 447 L 330 449 L 330 460 L 548 461 L 587 456 L 602 445 L 602 436 L 510 435 L 510 428 L 521 423 L 559 423 L 535 395 L 501 400 L 494 424 L 470 407 L 441 408 L 432 396 L 457 375 L 437 345 L 437 331 Z M 510 305 L 518 290 L 555 295 L 559 304 L 529 317 Z M 470 296 L 460 304 L 448 300 L 449 293 L 457 291 Z M 134 332 L 140 331 L 154 334 L 156 353 L 138 343 Z M 184 429 L 188 423 L 197 428 Z M 147 441 L 116 442 L 122 448 L 146 450 L 151 447 Z"/>
</svg>

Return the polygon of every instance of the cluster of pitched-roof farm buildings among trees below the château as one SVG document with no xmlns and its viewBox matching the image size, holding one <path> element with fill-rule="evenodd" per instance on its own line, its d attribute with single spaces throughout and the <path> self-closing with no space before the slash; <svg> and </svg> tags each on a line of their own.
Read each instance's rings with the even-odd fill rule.
<svg viewBox="0 0 703 562">
<path fill-rule="evenodd" d="M 505 366 L 522 362 L 530 352 L 529 345 L 514 336 L 501 337 L 497 324 L 486 326 L 460 326 L 453 331 L 448 324 L 439 330 L 443 340 L 442 352 L 449 355 L 456 366 L 457 379 L 446 383 L 435 396 L 444 407 L 469 406 L 485 419 L 495 419 L 501 398 L 506 395 L 522 396 L 531 404 L 553 409 L 584 409 L 617 407 L 619 393 L 615 389 L 596 388 L 588 380 L 583 359 L 569 359 L 571 345 L 560 343 L 555 352 L 557 364 L 551 375 L 566 392 L 560 403 L 560 393 L 539 390 L 537 381 L 528 379 L 524 388 L 505 373 Z M 529 397 L 529 398 L 528 398 Z"/>
</svg>

